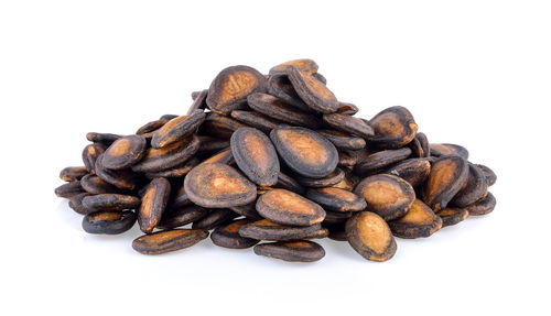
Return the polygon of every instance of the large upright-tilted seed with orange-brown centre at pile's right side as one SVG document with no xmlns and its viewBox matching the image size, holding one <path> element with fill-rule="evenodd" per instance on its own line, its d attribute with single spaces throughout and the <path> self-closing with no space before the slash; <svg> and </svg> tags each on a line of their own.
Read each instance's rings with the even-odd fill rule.
<svg viewBox="0 0 551 316">
<path fill-rule="evenodd" d="M 468 163 L 461 156 L 443 156 L 431 166 L 423 201 L 434 211 L 446 208 L 468 177 Z"/>
</svg>

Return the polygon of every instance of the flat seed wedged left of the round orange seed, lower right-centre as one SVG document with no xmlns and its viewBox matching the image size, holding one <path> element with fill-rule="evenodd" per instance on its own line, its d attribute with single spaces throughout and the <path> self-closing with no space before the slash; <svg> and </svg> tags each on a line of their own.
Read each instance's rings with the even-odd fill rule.
<svg viewBox="0 0 551 316">
<path fill-rule="evenodd" d="M 364 210 L 367 206 L 364 197 L 336 187 L 309 189 L 306 197 L 326 210 L 359 211 Z"/>
</svg>

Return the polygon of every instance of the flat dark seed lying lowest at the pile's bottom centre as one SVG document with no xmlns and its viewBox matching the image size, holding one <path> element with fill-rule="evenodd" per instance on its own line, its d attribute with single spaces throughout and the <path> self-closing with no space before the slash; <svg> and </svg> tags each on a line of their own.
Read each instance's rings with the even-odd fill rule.
<svg viewBox="0 0 551 316">
<path fill-rule="evenodd" d="M 255 246 L 253 251 L 258 255 L 290 262 L 314 262 L 325 257 L 323 247 L 307 240 L 260 243 Z"/>
</svg>

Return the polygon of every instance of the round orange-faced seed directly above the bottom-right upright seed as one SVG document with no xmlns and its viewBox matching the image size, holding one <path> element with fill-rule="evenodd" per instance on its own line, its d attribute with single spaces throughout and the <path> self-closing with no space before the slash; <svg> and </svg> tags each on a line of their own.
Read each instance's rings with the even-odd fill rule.
<svg viewBox="0 0 551 316">
<path fill-rule="evenodd" d="M 367 201 L 366 210 L 392 220 L 404 216 L 415 199 L 409 183 L 389 174 L 378 174 L 363 179 L 354 190 Z"/>
</svg>

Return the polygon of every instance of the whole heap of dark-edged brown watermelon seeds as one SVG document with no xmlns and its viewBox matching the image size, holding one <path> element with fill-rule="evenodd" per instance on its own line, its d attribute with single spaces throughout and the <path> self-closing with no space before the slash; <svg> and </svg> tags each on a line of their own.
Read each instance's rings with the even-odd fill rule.
<svg viewBox="0 0 551 316">
<path fill-rule="evenodd" d="M 84 166 L 64 168 L 55 189 L 85 215 L 86 232 L 138 221 L 144 235 L 132 248 L 145 254 L 210 236 L 303 262 L 322 259 L 312 240 L 328 237 L 386 261 L 395 237 L 429 237 L 496 205 L 496 175 L 465 148 L 429 143 L 403 107 L 354 117 L 358 108 L 336 99 L 311 59 L 269 75 L 228 67 L 192 98 L 185 116 L 134 134 L 86 135 Z"/>
</svg>

